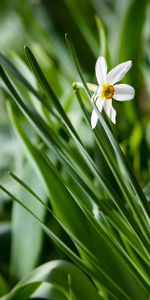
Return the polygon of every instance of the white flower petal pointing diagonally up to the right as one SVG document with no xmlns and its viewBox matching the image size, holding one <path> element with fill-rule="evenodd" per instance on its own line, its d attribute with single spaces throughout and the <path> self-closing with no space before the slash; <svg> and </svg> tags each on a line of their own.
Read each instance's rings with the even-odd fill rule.
<svg viewBox="0 0 150 300">
<path fill-rule="evenodd" d="M 107 74 L 107 82 L 109 84 L 114 84 L 118 81 L 120 81 L 126 73 L 130 70 L 132 67 L 132 61 L 128 60 L 126 62 L 123 62 L 113 68 L 110 72 Z"/>
</svg>

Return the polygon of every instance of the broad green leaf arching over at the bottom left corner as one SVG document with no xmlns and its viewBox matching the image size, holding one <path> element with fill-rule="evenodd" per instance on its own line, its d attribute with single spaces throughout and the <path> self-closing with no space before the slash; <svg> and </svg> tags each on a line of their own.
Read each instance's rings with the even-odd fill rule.
<svg viewBox="0 0 150 300">
<path fill-rule="evenodd" d="M 35 291 L 32 290 L 36 287 Z M 37 285 L 37 286 L 36 286 Z M 30 288 L 30 294 L 24 294 L 27 288 Z M 72 296 L 74 295 L 75 298 Z M 16 287 L 2 300 L 32 298 L 46 299 L 102 299 L 84 273 L 72 263 L 62 260 L 48 262 L 20 281 Z M 16 298 L 15 298 L 16 297 Z"/>
</svg>

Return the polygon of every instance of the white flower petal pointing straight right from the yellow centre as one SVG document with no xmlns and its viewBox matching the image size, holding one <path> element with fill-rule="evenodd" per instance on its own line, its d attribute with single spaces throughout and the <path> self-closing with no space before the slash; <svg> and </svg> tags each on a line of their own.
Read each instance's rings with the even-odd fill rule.
<svg viewBox="0 0 150 300">
<path fill-rule="evenodd" d="M 114 85 L 115 93 L 113 98 L 118 101 L 132 100 L 135 95 L 134 88 L 128 84 Z"/>
</svg>

